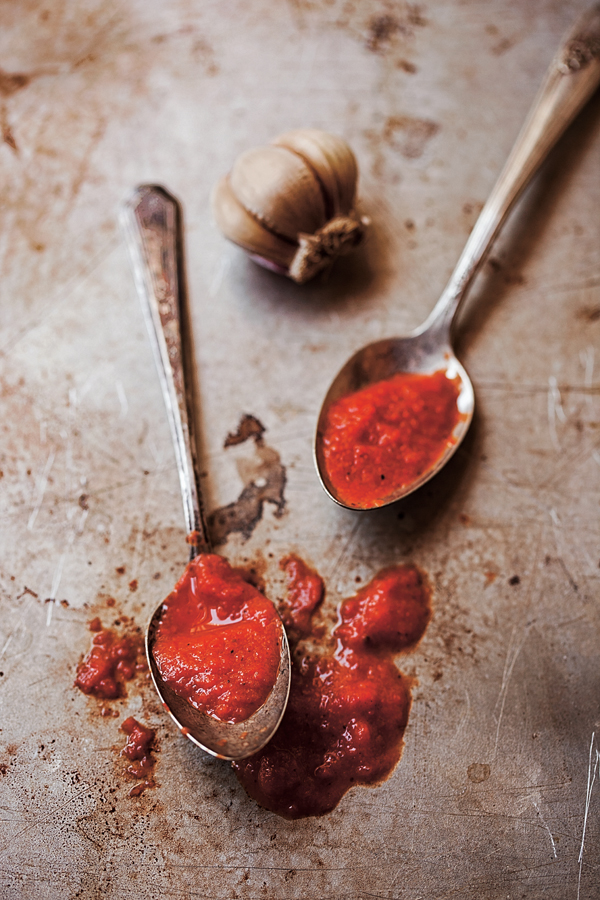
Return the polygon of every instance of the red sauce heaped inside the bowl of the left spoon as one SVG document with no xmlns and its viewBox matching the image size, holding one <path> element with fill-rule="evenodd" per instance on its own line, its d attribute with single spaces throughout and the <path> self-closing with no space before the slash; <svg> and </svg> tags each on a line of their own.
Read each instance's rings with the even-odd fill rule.
<svg viewBox="0 0 600 900">
<path fill-rule="evenodd" d="M 164 601 L 153 655 L 177 694 L 216 719 L 241 722 L 277 676 L 277 612 L 240 570 L 200 554 Z"/>
</svg>

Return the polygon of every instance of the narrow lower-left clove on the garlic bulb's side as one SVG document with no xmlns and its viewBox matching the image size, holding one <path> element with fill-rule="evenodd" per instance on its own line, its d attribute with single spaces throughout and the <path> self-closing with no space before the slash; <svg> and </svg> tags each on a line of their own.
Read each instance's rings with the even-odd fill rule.
<svg viewBox="0 0 600 900">
<path fill-rule="evenodd" d="M 288 269 L 296 252 L 296 243 L 283 240 L 268 231 L 242 206 L 224 176 L 215 186 L 211 205 L 217 227 L 233 243 L 257 256 Z"/>
</svg>

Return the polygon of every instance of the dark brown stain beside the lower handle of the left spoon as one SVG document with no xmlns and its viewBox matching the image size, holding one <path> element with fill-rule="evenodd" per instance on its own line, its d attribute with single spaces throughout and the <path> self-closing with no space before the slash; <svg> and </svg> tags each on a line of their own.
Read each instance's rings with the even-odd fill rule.
<svg viewBox="0 0 600 900">
<path fill-rule="evenodd" d="M 264 426 L 254 416 L 245 415 L 225 446 L 254 440 L 252 458 L 238 460 L 238 471 L 245 487 L 233 503 L 216 509 L 208 517 L 208 529 L 215 547 L 224 544 L 230 534 L 248 539 L 263 516 L 266 503 L 275 507 L 280 518 L 285 511 L 286 471 L 279 453 L 263 441 Z"/>
</svg>

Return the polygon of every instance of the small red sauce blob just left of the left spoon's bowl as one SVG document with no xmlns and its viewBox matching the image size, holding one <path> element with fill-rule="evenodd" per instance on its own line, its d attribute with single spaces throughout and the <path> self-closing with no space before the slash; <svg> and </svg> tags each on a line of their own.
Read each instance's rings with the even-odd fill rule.
<svg viewBox="0 0 600 900">
<path fill-rule="evenodd" d="M 141 638 L 119 636 L 112 629 L 102 628 L 98 618 L 92 619 L 89 628 L 96 633 L 90 650 L 77 667 L 75 686 L 84 694 L 102 700 L 124 697 L 125 682 L 131 681 L 139 668 Z"/>
</svg>

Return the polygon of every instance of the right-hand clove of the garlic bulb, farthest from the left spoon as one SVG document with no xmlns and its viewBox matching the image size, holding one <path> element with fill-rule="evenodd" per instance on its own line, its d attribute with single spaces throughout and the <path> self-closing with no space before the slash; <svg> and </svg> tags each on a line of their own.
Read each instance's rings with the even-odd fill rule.
<svg viewBox="0 0 600 900">
<path fill-rule="evenodd" d="M 314 170 L 331 206 L 328 218 L 352 210 L 358 166 L 343 138 L 318 128 L 297 128 L 280 134 L 272 143 L 297 153 Z"/>
</svg>

